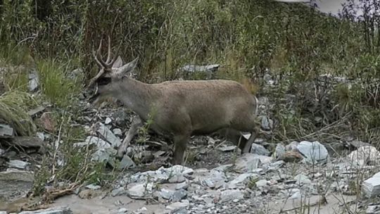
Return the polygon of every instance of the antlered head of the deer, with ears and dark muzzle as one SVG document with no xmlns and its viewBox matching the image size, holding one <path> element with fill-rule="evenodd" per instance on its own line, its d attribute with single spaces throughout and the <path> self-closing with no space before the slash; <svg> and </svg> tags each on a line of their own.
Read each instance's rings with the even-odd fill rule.
<svg viewBox="0 0 380 214">
<path fill-rule="evenodd" d="M 110 38 L 108 37 L 108 55 L 107 60 L 103 61 L 101 56 L 101 42 L 99 48 L 93 51 L 93 56 L 96 63 L 99 65 L 99 73 L 93 77 L 88 84 L 87 89 L 91 92 L 89 98 L 90 103 L 97 103 L 101 98 L 112 96 L 115 93 L 120 93 L 120 84 L 124 78 L 128 78 L 128 74 L 133 73 L 136 68 L 139 58 L 122 65 L 122 58 L 111 58 Z"/>
</svg>

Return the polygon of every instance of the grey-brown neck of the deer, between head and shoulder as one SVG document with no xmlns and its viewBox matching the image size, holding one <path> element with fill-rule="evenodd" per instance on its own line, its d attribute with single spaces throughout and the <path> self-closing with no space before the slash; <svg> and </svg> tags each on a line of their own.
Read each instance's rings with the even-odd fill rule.
<svg viewBox="0 0 380 214">
<path fill-rule="evenodd" d="M 137 113 L 141 119 L 147 120 L 148 114 L 154 111 L 159 93 L 152 89 L 151 84 L 127 77 L 120 82 L 116 98 Z"/>
</svg>

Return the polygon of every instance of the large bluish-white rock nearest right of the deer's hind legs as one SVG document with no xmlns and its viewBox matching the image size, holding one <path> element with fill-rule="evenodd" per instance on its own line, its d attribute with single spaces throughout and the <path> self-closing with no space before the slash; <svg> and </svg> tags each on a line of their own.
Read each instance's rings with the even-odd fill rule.
<svg viewBox="0 0 380 214">
<path fill-rule="evenodd" d="M 326 147 L 318 141 L 301 141 L 297 149 L 305 156 L 303 160 L 305 160 L 306 163 L 326 163 L 329 158 Z"/>
</svg>

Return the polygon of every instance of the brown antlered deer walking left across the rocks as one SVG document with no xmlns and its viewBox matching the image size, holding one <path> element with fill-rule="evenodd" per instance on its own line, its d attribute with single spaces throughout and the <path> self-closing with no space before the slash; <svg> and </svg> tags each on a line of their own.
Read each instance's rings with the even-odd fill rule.
<svg viewBox="0 0 380 214">
<path fill-rule="evenodd" d="M 139 57 L 123 65 L 120 56 L 111 53 L 108 37 L 108 56 L 99 48 L 92 51 L 99 73 L 87 89 L 89 103 L 105 98 L 121 101 L 137 116 L 118 148 L 122 157 L 137 130 L 151 117 L 149 130 L 169 136 L 174 141 L 172 163 L 184 163 L 186 145 L 192 136 L 221 134 L 238 144 L 241 153 L 248 153 L 258 133 L 258 99 L 243 84 L 234 80 L 172 80 L 148 84 L 133 77 Z M 242 137 L 244 133 L 250 137 Z M 244 135 L 246 136 L 246 135 Z"/>
</svg>

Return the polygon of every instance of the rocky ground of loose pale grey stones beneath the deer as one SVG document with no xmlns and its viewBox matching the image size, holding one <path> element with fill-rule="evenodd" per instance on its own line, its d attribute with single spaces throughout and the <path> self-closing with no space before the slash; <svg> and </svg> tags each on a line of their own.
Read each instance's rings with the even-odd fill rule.
<svg viewBox="0 0 380 214">
<path fill-rule="evenodd" d="M 241 155 L 229 141 L 194 137 L 186 163 L 169 165 L 170 140 L 145 133 L 118 161 L 115 148 L 133 114 L 81 103 L 72 126 L 83 127 L 87 137 L 72 146 L 94 149 L 91 161 L 106 161 L 118 177 L 107 185 L 62 182 L 70 191 L 48 203 L 50 208 L 21 213 L 380 213 L 380 153 L 365 142 L 272 144 L 258 138 L 251 153 Z M 260 99 L 260 109 L 269 108 L 266 103 Z M 63 144 L 53 140 L 51 132 L 59 125 L 49 106 L 29 114 L 45 130 L 35 137 L 15 137 L 11 126 L 0 124 L 0 213 L 20 213 L 23 196 L 38 182 L 34 172 L 46 148 Z M 260 119 L 264 132 L 273 128 L 267 115 Z M 59 153 L 54 160 L 65 165 Z"/>
</svg>

